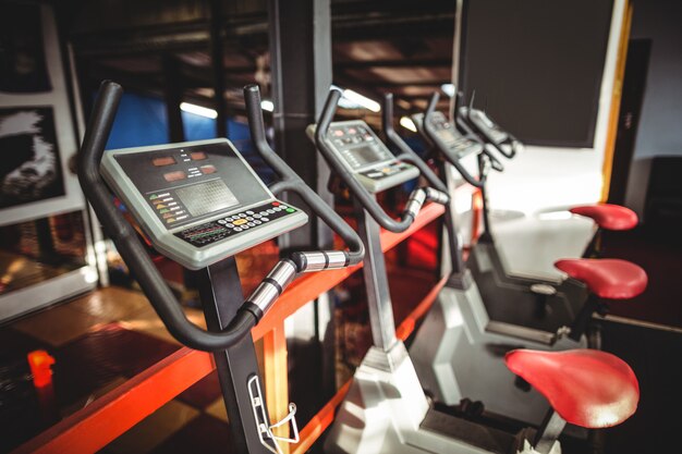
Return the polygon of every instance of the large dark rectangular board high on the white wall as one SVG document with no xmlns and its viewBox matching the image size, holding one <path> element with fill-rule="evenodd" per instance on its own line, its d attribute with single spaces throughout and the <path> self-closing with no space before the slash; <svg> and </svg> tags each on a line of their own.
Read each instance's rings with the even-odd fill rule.
<svg viewBox="0 0 682 454">
<path fill-rule="evenodd" d="M 465 0 L 461 87 L 528 144 L 592 147 L 612 0 Z"/>
</svg>

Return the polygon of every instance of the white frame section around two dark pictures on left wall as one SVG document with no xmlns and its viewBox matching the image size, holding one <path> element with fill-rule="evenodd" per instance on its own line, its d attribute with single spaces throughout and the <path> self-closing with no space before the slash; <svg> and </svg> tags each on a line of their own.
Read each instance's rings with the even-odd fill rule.
<svg viewBox="0 0 682 454">
<path fill-rule="evenodd" d="M 63 62 L 49 5 L 0 3 L 0 225 L 85 208 Z"/>
</svg>

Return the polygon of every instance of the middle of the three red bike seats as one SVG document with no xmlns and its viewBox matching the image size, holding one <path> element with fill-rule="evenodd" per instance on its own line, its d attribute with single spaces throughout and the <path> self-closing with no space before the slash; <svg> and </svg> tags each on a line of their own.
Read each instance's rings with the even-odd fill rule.
<svg viewBox="0 0 682 454">
<path fill-rule="evenodd" d="M 648 282 L 646 271 L 640 266 L 614 258 L 563 259 L 556 261 L 555 267 L 584 282 L 595 295 L 608 299 L 633 298 L 644 292 Z"/>
</svg>

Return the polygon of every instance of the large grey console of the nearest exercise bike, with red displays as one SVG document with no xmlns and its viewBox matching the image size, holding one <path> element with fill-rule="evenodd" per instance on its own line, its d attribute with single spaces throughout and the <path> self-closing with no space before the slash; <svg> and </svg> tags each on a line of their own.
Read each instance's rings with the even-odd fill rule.
<svg viewBox="0 0 682 454">
<path fill-rule="evenodd" d="M 109 150 L 101 173 L 154 246 L 193 270 L 307 222 L 228 139 Z"/>
</svg>

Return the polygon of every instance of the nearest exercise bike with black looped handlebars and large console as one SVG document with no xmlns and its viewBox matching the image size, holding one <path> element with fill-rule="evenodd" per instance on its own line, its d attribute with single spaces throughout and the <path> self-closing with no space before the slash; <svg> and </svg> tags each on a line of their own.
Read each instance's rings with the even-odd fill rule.
<svg viewBox="0 0 682 454">
<path fill-rule="evenodd" d="M 279 176 L 269 187 L 226 138 L 105 152 L 121 95 L 121 86 L 102 83 L 78 155 L 83 192 L 170 333 L 192 348 L 212 352 L 234 450 L 282 454 L 282 444 L 297 441 L 296 407 L 290 404 L 289 415 L 271 424 L 251 329 L 297 275 L 358 263 L 363 244 L 268 147 L 257 87 L 246 87 L 244 96 L 256 149 Z M 349 250 L 294 251 L 244 298 L 234 255 L 307 222 L 304 211 L 277 198 L 284 191 L 297 193 Z M 155 249 L 195 271 L 208 331 L 186 319 L 112 193 Z M 275 435 L 272 429 L 285 424 L 293 437 Z"/>
</svg>

